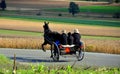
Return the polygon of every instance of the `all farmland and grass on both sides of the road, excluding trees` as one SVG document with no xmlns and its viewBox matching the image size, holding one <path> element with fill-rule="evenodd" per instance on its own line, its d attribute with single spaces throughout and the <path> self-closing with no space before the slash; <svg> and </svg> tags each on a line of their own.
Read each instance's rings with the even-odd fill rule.
<svg viewBox="0 0 120 74">
<path fill-rule="evenodd" d="M 63 29 L 73 33 L 73 29 L 78 28 L 82 35 L 81 40 L 85 42 L 86 52 L 120 54 L 120 19 L 113 18 L 116 12 L 120 12 L 120 3 L 76 3 L 80 6 L 80 13 L 73 17 L 67 11 L 69 0 L 7 0 L 7 10 L 0 10 L 0 48 L 41 49 L 44 41 L 43 25 L 47 21 L 50 29 L 59 33 Z M 41 15 L 37 15 L 38 13 Z M 45 49 L 50 49 L 50 46 L 47 45 Z M 70 65 L 47 67 L 44 64 L 18 63 L 17 66 L 19 74 L 120 73 L 117 67 L 71 68 Z M 11 74 L 12 68 L 12 61 L 0 55 L 0 74 Z"/>
</svg>

